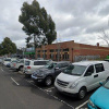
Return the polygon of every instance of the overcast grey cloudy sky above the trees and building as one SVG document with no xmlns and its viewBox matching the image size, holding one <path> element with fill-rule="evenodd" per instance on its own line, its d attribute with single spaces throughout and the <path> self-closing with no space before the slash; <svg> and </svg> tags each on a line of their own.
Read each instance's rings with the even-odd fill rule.
<svg viewBox="0 0 109 109">
<path fill-rule="evenodd" d="M 23 2 L 33 0 L 0 0 L 0 43 L 4 37 L 25 47 L 27 35 L 19 22 Z M 57 40 L 106 45 L 99 39 L 102 29 L 109 33 L 109 0 L 37 0 L 56 23 Z"/>
</svg>

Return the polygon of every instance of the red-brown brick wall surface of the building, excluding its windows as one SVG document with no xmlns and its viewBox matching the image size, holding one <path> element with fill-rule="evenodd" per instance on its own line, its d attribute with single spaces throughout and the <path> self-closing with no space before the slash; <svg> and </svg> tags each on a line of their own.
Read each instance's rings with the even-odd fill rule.
<svg viewBox="0 0 109 109">
<path fill-rule="evenodd" d="M 77 44 L 74 43 L 74 40 L 71 41 L 64 41 L 64 43 L 59 43 L 59 44 L 52 44 L 52 45 L 47 45 L 47 46 L 41 46 L 41 48 L 36 49 L 36 57 L 37 57 L 37 51 L 40 50 L 39 55 L 40 58 L 43 58 L 43 50 L 47 50 L 45 55 L 47 56 L 46 59 L 50 59 L 50 55 L 53 55 L 52 60 L 57 60 L 57 55 L 58 51 L 57 49 L 60 48 L 60 60 L 63 60 L 63 55 L 68 53 L 69 55 L 69 61 L 74 61 L 75 56 L 100 56 L 100 58 L 106 58 L 107 55 L 109 55 L 109 48 L 107 47 L 99 47 L 99 44 L 97 46 L 90 46 L 90 45 L 84 45 L 84 44 Z M 63 49 L 69 48 L 69 51 L 63 51 Z M 53 50 L 53 52 L 50 52 L 50 50 Z"/>
</svg>

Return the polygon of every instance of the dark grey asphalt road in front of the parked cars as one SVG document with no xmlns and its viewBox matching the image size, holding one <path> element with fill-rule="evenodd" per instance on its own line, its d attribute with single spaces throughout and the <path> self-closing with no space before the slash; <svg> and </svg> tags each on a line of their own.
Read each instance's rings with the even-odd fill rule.
<svg viewBox="0 0 109 109">
<path fill-rule="evenodd" d="M 87 109 L 87 100 L 65 96 L 55 86 L 35 85 L 22 72 L 0 66 L 0 109 Z"/>
</svg>

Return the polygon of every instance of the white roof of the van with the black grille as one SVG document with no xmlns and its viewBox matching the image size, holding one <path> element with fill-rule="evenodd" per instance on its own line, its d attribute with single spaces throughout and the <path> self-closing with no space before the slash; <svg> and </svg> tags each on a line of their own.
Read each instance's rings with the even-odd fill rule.
<svg viewBox="0 0 109 109">
<path fill-rule="evenodd" d="M 97 63 L 105 63 L 105 62 L 106 61 L 81 61 L 81 62 L 74 62 L 72 64 L 88 66 L 89 64 L 97 64 Z"/>
</svg>

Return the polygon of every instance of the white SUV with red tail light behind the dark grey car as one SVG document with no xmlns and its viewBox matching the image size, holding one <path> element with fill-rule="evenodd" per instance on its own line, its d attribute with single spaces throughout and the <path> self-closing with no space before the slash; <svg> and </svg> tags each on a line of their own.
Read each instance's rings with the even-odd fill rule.
<svg viewBox="0 0 109 109">
<path fill-rule="evenodd" d="M 26 60 L 24 65 L 25 75 L 32 75 L 33 71 L 43 68 L 49 60 Z"/>
</svg>

